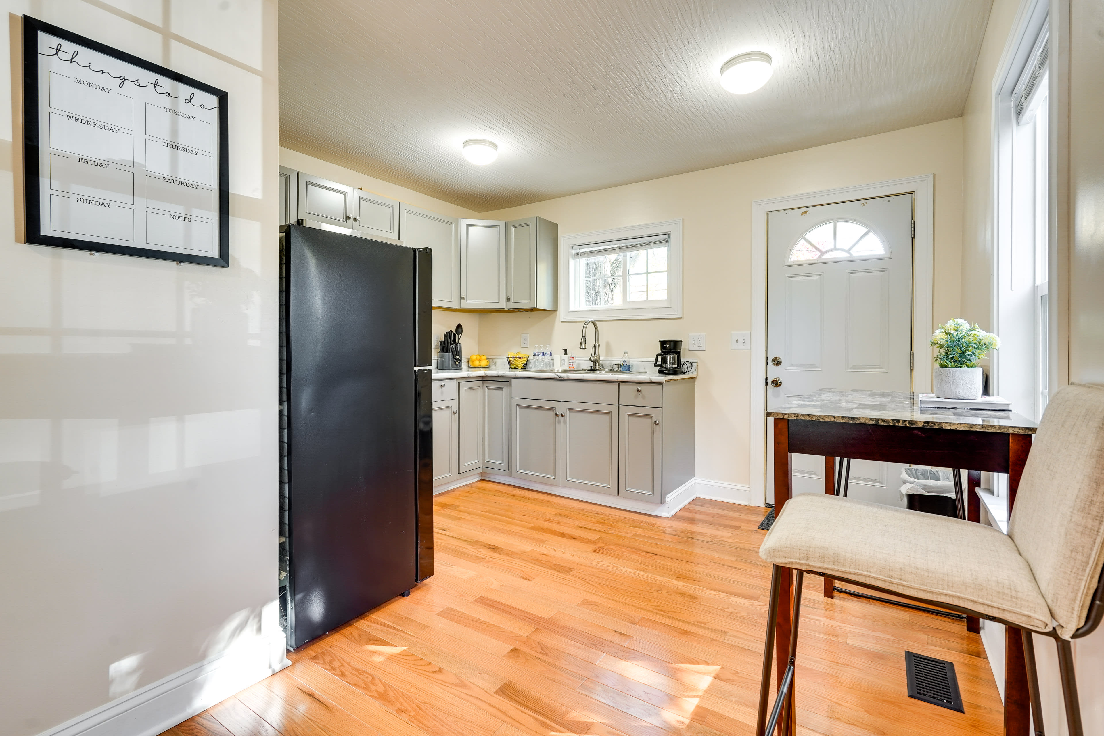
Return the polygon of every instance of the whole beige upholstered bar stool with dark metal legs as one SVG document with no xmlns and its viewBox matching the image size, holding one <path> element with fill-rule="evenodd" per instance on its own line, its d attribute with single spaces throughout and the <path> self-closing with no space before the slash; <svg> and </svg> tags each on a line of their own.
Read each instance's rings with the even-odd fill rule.
<svg viewBox="0 0 1104 736">
<path fill-rule="evenodd" d="M 773 564 L 756 736 L 786 734 L 805 573 L 874 588 L 1021 630 L 1034 733 L 1044 734 L 1029 632 L 1054 639 L 1071 736 L 1083 736 L 1071 640 L 1104 615 L 1104 388 L 1058 392 L 1039 424 L 1008 534 L 949 516 L 835 495 L 788 501 L 760 555 Z M 767 718 L 782 572 L 794 570 L 788 665 Z M 779 722 L 781 716 L 781 722 Z"/>
</svg>

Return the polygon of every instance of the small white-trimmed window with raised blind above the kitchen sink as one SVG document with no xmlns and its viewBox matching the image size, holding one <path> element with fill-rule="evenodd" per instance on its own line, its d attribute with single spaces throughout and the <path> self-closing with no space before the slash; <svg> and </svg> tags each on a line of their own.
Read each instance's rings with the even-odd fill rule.
<svg viewBox="0 0 1104 736">
<path fill-rule="evenodd" d="M 682 221 L 563 236 L 564 321 L 680 317 Z"/>
</svg>

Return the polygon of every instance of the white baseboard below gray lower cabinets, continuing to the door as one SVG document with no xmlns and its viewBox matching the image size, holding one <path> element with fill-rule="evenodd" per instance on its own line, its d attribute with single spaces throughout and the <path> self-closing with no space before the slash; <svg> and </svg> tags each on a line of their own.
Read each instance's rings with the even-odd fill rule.
<svg viewBox="0 0 1104 736">
<path fill-rule="evenodd" d="M 742 486 L 740 483 L 726 483 L 719 480 L 704 480 L 702 478 L 691 478 L 686 483 L 668 493 L 667 501 L 664 503 L 648 503 L 647 501 L 623 499 L 619 495 L 607 495 L 605 493 L 584 491 L 577 488 L 550 486 L 548 483 L 539 483 L 522 478 L 514 478 L 513 476 L 503 476 L 488 471 L 469 476 L 467 478 L 460 478 L 449 483 L 443 483 L 434 488 L 433 493 L 434 495 L 445 493 L 446 491 L 452 491 L 463 486 L 474 483 L 477 480 L 489 480 L 496 483 L 506 483 L 507 486 L 528 488 L 533 491 L 541 491 L 544 493 L 552 493 L 553 495 L 575 499 L 576 501 L 587 501 L 590 503 L 597 503 L 599 505 L 612 506 L 614 509 L 624 509 L 625 511 L 636 511 L 638 513 L 661 516 L 664 519 L 670 519 L 678 513 L 682 506 L 690 503 L 694 499 L 711 499 L 713 501 L 725 501 L 728 503 L 740 503 L 743 505 L 749 505 L 751 503 L 751 489 L 747 486 Z"/>
</svg>

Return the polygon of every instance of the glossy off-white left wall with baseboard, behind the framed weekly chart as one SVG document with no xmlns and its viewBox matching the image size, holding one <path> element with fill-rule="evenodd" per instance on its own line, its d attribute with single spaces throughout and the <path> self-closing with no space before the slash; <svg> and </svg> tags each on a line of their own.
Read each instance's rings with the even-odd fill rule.
<svg viewBox="0 0 1104 736">
<path fill-rule="evenodd" d="M 283 660 L 277 2 L 0 7 L 0 733 L 168 727 Z M 23 13 L 230 93 L 230 268 L 15 242 Z"/>
</svg>

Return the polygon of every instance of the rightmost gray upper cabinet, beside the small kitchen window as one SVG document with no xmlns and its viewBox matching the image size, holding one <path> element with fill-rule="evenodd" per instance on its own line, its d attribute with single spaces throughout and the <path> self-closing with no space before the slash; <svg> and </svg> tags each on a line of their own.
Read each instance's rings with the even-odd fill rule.
<svg viewBox="0 0 1104 736">
<path fill-rule="evenodd" d="M 543 217 L 506 223 L 507 309 L 555 309 L 559 230 Z"/>
</svg>

